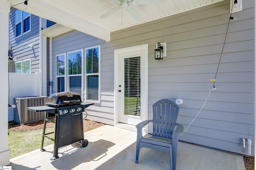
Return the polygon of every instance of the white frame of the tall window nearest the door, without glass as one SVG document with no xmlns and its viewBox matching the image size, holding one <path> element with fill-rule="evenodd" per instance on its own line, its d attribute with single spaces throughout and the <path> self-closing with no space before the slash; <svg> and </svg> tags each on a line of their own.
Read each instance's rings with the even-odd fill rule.
<svg viewBox="0 0 256 170">
<path fill-rule="evenodd" d="M 93 49 L 93 48 L 97 48 L 98 47 L 98 73 L 86 73 L 86 51 L 88 49 Z M 92 102 L 92 103 L 100 103 L 100 45 L 95 45 L 95 46 L 92 46 L 92 47 L 87 47 L 84 49 L 84 58 L 85 58 L 85 62 L 84 62 L 84 65 L 85 65 L 85 69 L 84 69 L 84 80 L 85 80 L 85 97 L 84 97 L 84 100 L 86 102 Z M 87 99 L 87 92 L 88 92 L 88 89 L 87 89 L 87 86 L 88 86 L 88 81 L 87 81 L 87 77 L 90 76 L 90 75 L 98 75 L 98 101 L 96 100 L 90 100 L 90 99 Z"/>
</svg>

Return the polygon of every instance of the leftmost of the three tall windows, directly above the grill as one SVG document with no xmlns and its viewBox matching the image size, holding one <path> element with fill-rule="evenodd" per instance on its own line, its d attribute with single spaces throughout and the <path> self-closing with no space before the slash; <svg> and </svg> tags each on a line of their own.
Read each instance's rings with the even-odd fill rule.
<svg viewBox="0 0 256 170">
<path fill-rule="evenodd" d="M 65 91 L 65 61 L 65 54 L 60 54 L 56 56 L 57 92 Z"/>
</svg>

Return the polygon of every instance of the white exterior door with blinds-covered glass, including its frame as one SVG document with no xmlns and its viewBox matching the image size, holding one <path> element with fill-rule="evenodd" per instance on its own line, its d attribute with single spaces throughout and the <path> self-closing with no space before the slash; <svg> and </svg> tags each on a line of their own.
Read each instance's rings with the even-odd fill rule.
<svg viewBox="0 0 256 170">
<path fill-rule="evenodd" d="M 115 53 L 115 124 L 137 125 L 148 115 L 148 44 Z"/>
</svg>

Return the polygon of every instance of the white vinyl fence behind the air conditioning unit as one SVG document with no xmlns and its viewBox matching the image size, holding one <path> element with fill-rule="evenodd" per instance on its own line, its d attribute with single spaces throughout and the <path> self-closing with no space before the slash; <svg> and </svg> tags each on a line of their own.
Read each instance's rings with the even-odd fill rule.
<svg viewBox="0 0 256 170">
<path fill-rule="evenodd" d="M 9 73 L 9 104 L 14 97 L 40 96 L 40 73 Z M 14 120 L 14 109 L 8 107 L 8 121 Z"/>
</svg>

